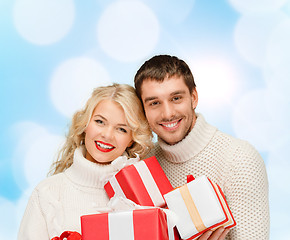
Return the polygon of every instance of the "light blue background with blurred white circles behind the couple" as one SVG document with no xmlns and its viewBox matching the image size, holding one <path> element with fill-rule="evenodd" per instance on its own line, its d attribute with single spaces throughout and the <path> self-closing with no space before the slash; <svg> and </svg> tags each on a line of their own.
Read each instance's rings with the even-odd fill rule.
<svg viewBox="0 0 290 240">
<path fill-rule="evenodd" d="M 133 85 L 156 54 L 184 59 L 197 111 L 260 152 L 271 239 L 290 239 L 289 42 L 289 0 L 1 0 L 0 239 L 16 239 L 92 88 Z"/>
</svg>

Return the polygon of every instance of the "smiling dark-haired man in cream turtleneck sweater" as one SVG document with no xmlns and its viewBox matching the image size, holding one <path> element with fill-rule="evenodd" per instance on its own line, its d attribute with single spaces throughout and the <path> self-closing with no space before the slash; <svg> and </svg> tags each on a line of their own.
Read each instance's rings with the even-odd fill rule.
<svg viewBox="0 0 290 240">
<path fill-rule="evenodd" d="M 189 174 L 206 175 L 226 195 L 236 227 L 229 233 L 222 228 L 208 231 L 199 239 L 268 239 L 264 161 L 248 142 L 220 132 L 196 113 L 198 94 L 188 65 L 174 56 L 155 56 L 140 67 L 134 82 L 158 136 L 151 155 L 173 187 L 185 184 Z"/>
</svg>

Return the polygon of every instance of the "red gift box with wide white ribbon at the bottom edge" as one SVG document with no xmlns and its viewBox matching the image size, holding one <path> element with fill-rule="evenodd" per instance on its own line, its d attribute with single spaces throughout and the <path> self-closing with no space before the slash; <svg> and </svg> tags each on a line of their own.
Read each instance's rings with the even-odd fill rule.
<svg viewBox="0 0 290 240">
<path fill-rule="evenodd" d="M 177 240 L 160 208 L 81 216 L 83 240 Z"/>
</svg>

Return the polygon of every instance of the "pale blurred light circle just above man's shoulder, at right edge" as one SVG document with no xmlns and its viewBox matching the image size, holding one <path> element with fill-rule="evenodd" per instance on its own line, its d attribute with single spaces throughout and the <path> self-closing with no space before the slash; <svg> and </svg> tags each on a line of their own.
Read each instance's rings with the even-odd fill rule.
<svg viewBox="0 0 290 240">
<path fill-rule="evenodd" d="M 277 93 L 269 90 L 255 90 L 244 95 L 233 112 L 236 135 L 249 141 L 259 151 L 274 150 L 285 144 L 289 136 L 289 114 L 276 114 L 281 111 L 281 102 Z M 283 110 L 285 111 L 285 107 Z"/>
</svg>

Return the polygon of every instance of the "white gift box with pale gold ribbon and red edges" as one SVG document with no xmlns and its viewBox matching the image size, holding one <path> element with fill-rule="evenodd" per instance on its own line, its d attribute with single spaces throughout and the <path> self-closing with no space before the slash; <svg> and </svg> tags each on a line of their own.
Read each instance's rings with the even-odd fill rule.
<svg viewBox="0 0 290 240">
<path fill-rule="evenodd" d="M 208 229 L 236 225 L 221 189 L 206 176 L 174 189 L 164 198 L 178 216 L 176 226 L 182 239 L 196 239 Z"/>
</svg>

